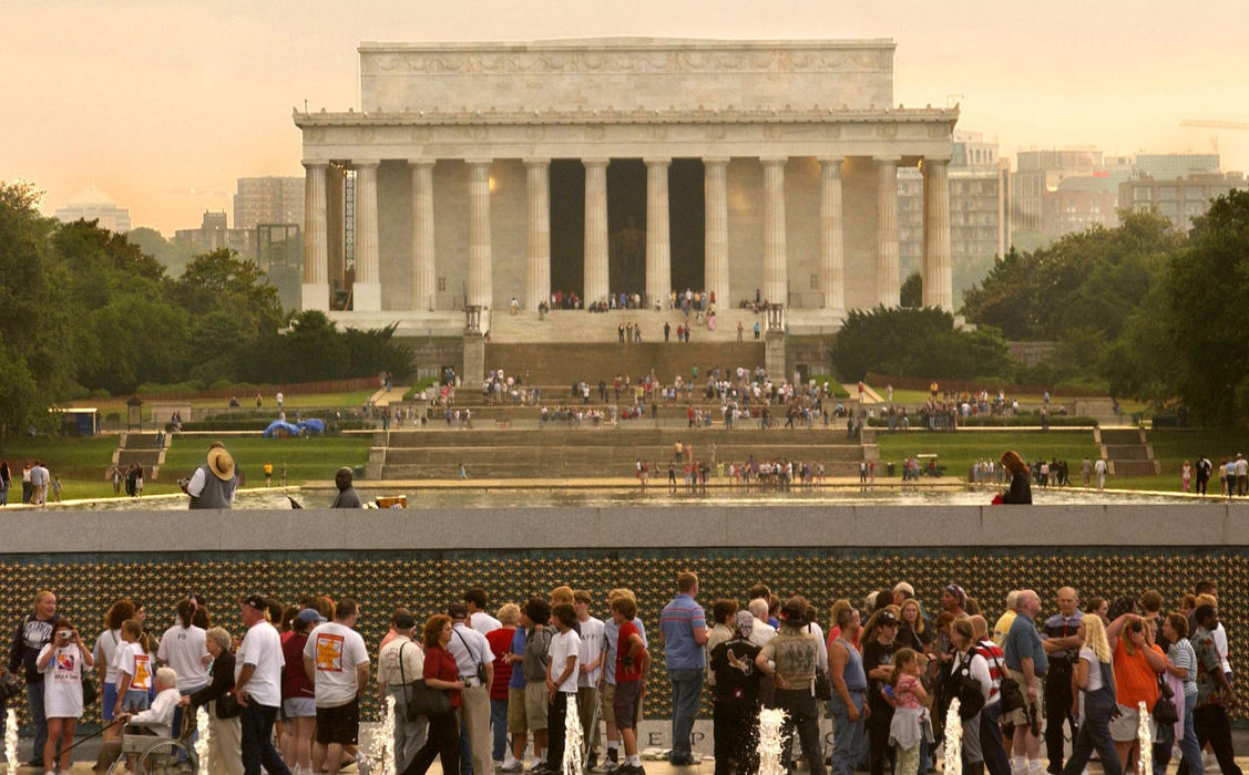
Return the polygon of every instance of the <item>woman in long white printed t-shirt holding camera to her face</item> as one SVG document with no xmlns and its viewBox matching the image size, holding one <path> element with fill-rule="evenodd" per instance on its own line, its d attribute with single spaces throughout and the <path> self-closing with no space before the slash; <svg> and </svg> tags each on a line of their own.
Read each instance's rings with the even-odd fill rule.
<svg viewBox="0 0 1249 775">
<path fill-rule="evenodd" d="M 52 641 L 44 646 L 35 663 L 44 674 L 44 714 L 47 718 L 47 743 L 44 745 L 44 771 L 55 773 L 56 749 L 64 746 L 60 770 L 70 771 L 74 729 L 82 715 L 82 668 L 95 658 L 82 645 L 69 619 L 52 625 Z"/>
</svg>

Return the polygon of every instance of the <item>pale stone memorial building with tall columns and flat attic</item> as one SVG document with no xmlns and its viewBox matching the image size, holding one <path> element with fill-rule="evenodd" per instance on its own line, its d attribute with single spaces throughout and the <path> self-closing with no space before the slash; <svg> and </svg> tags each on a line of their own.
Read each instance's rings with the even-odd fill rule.
<svg viewBox="0 0 1249 775">
<path fill-rule="evenodd" d="M 836 321 L 898 303 L 901 167 L 923 173 L 923 301 L 953 307 L 958 110 L 894 105 L 893 41 L 358 52 L 358 111 L 294 116 L 305 310 L 420 321 L 691 287 Z"/>
</svg>

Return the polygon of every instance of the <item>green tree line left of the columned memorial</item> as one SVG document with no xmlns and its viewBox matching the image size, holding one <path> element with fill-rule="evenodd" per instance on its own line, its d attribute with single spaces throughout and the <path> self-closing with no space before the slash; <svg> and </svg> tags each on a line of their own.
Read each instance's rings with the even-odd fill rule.
<svg viewBox="0 0 1249 775">
<path fill-rule="evenodd" d="M 44 217 L 39 198 L 0 182 L 0 427 L 44 427 L 49 406 L 154 383 L 411 372 L 393 327 L 338 331 L 321 312 L 285 311 L 232 251 L 174 277 L 124 235 Z"/>
</svg>

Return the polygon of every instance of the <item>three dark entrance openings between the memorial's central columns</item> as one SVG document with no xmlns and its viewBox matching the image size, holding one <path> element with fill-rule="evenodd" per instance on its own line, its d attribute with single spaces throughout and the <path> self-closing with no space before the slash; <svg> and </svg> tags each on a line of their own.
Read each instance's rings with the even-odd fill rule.
<svg viewBox="0 0 1249 775">
<path fill-rule="evenodd" d="M 608 288 L 646 293 L 646 165 L 613 158 L 607 166 Z M 671 287 L 703 286 L 703 163 L 673 158 L 668 167 Z M 580 160 L 551 162 L 551 293 L 583 296 L 586 256 L 586 167 Z M 664 306 L 667 300 L 664 300 Z"/>
</svg>

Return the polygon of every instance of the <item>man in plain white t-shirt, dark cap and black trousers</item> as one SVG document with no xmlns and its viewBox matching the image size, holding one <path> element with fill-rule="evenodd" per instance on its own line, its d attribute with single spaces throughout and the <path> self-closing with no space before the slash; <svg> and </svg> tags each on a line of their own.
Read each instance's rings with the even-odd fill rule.
<svg viewBox="0 0 1249 775">
<path fill-rule="evenodd" d="M 261 595 L 247 595 L 239 615 L 247 634 L 235 655 L 235 696 L 242 705 L 242 768 L 245 775 L 291 775 L 274 748 L 274 720 L 282 705 L 282 639 L 265 618 L 269 604 Z"/>
</svg>

